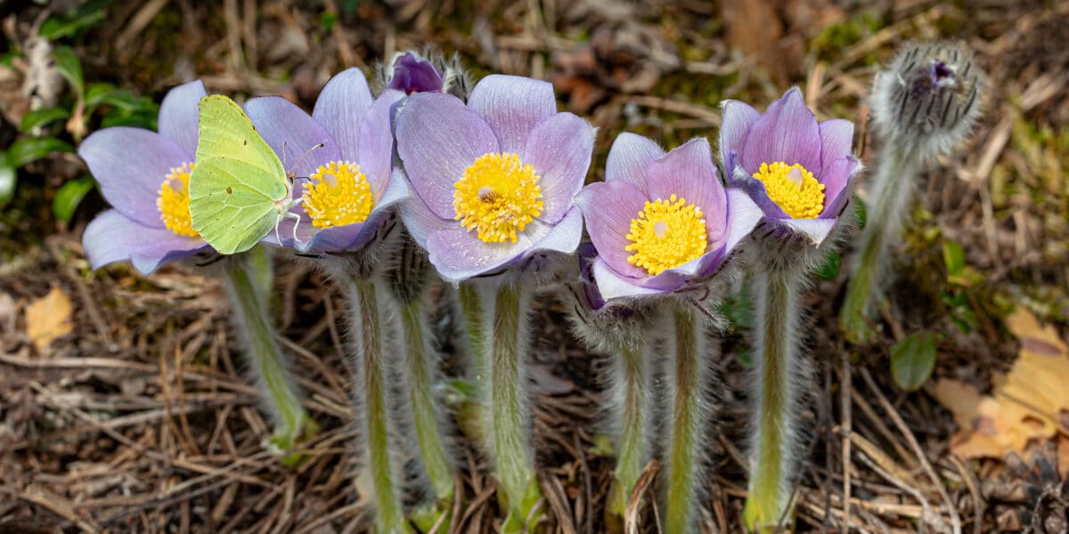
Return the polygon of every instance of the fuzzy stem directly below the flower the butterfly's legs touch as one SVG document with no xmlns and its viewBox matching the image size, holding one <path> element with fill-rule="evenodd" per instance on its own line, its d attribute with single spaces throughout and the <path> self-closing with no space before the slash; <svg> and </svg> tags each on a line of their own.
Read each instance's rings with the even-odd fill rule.
<svg viewBox="0 0 1069 534">
<path fill-rule="evenodd" d="M 358 408 L 363 415 L 366 465 L 371 470 L 371 488 L 376 506 L 375 530 L 382 534 L 412 532 L 404 517 L 400 498 L 400 470 L 393 465 L 389 439 L 387 399 L 386 339 L 383 312 L 373 280 L 353 280 L 343 284 L 348 298 L 356 354 Z"/>
</svg>

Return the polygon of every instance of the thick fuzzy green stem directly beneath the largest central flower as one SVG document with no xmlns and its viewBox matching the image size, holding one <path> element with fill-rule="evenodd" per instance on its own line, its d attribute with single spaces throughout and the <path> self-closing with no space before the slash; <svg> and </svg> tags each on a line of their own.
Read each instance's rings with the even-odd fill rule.
<svg viewBox="0 0 1069 534">
<path fill-rule="evenodd" d="M 489 372 L 479 390 L 483 395 L 487 450 L 492 452 L 497 481 L 509 502 L 510 517 L 502 529 L 517 532 L 541 498 L 527 427 L 529 399 L 524 387 L 524 359 L 530 337 L 530 288 L 520 280 L 505 279 L 493 282 L 491 294 L 493 300 L 487 302 L 490 309 L 484 310 L 485 323 L 481 328 L 489 333 L 484 348 Z"/>
</svg>

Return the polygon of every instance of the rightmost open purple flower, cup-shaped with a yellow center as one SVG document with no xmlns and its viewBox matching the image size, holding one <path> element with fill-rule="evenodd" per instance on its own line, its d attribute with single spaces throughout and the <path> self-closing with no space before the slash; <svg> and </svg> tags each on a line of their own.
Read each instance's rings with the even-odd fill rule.
<svg viewBox="0 0 1069 534">
<path fill-rule="evenodd" d="M 749 193 L 765 221 L 820 245 L 842 213 L 861 167 L 850 153 L 853 135 L 850 121 L 818 123 L 797 88 L 764 113 L 727 100 L 721 151 L 728 184 Z"/>
</svg>

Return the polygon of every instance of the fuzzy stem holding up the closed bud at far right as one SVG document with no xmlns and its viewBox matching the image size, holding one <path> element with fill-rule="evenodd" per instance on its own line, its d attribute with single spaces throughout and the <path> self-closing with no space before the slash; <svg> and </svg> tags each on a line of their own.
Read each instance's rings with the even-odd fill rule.
<svg viewBox="0 0 1069 534">
<path fill-rule="evenodd" d="M 888 146 L 877 166 L 872 191 L 865 203 L 866 223 L 861 253 L 854 258 L 839 325 L 855 343 L 871 340 L 870 323 L 881 298 L 884 273 L 892 262 L 890 245 L 899 239 L 909 216 L 908 204 L 918 169 L 915 152 Z"/>
</svg>

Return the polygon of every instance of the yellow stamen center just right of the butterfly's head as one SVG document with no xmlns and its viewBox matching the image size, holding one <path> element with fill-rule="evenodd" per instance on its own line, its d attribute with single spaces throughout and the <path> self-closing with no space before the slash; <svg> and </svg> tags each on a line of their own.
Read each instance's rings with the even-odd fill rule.
<svg viewBox="0 0 1069 534">
<path fill-rule="evenodd" d="M 317 229 L 363 222 L 374 205 L 368 177 L 360 166 L 348 161 L 320 166 L 308 176 L 300 198 Z"/>
</svg>

